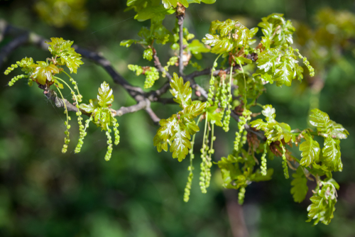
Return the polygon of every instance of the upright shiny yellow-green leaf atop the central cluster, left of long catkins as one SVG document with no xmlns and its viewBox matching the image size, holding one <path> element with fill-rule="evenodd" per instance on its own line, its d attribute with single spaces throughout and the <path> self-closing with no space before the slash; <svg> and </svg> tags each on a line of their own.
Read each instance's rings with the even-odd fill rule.
<svg viewBox="0 0 355 237">
<path fill-rule="evenodd" d="M 182 108 L 192 104 L 192 89 L 190 87 L 190 82 L 186 82 L 184 84 L 182 77 L 178 77 L 178 75 L 174 72 L 173 79 L 170 82 L 170 87 L 170 93 L 173 94 L 173 97 L 175 97 L 174 101 L 180 104 Z"/>
</svg>

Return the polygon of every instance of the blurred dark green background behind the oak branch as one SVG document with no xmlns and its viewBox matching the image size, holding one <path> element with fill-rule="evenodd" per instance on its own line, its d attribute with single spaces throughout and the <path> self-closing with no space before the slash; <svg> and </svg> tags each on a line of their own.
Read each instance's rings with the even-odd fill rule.
<svg viewBox="0 0 355 237">
<path fill-rule="evenodd" d="M 142 48 L 124 48 L 119 43 L 136 38 L 148 21 L 135 21 L 135 13 L 125 8 L 126 1 L 118 0 L 0 0 L 0 18 L 45 38 L 62 37 L 97 50 L 129 82 L 143 87 L 143 77 L 127 69 L 129 64 L 149 65 L 141 58 Z M 261 17 L 275 12 L 292 19 L 297 29 L 296 47 L 315 66 L 316 77 L 293 82 L 292 87 L 268 85 L 258 102 L 273 104 L 278 121 L 301 129 L 307 127 L 310 108 L 319 107 L 350 133 L 341 143 L 344 170 L 334 173 L 340 190 L 329 226 L 305 222 L 315 184 L 308 182 L 310 191 L 304 202 L 293 202 L 291 179 L 284 179 L 278 158 L 268 162 L 275 169 L 273 180 L 249 185 L 242 207 L 236 204 L 235 190 L 222 189 L 218 167 L 212 168 L 207 194 L 201 194 L 199 135 L 192 194 L 190 202 L 183 202 L 189 162 L 157 152 L 153 136 L 158 127 L 144 111 L 118 118 L 121 143 L 114 147 L 109 162 L 104 160 L 106 136 L 94 126 L 89 128 L 82 152 L 74 153 L 79 136 L 75 119 L 70 148 L 62 154 L 62 109 L 48 101 L 40 89 L 28 87 L 25 80 L 8 87 L 11 77 L 0 74 L 0 236 L 355 236 L 354 1 L 217 0 L 212 5 L 192 4 L 185 26 L 201 39 L 215 19 L 239 19 L 251 28 Z M 164 24 L 171 30 L 174 21 L 173 15 L 168 16 Z M 11 39 L 4 38 L 0 48 Z M 25 45 L 13 51 L 0 70 L 4 72 L 26 56 L 43 60 L 49 55 Z M 158 55 L 165 62 L 172 53 L 163 47 Z M 206 55 L 202 65 L 209 67 L 213 57 Z M 134 103 L 89 60 L 84 60 L 75 79 L 84 102 L 96 97 L 97 88 L 106 81 L 114 89 L 114 108 Z M 198 82 L 207 85 L 207 77 Z M 65 97 L 70 98 L 70 92 L 65 92 Z M 153 104 L 153 110 L 160 118 L 167 118 L 178 106 Z M 230 133 L 217 130 L 215 160 L 231 151 L 235 130 L 235 121 L 231 121 Z M 297 149 L 294 151 L 299 157 Z M 236 228 L 246 228 L 248 234 Z"/>
</svg>

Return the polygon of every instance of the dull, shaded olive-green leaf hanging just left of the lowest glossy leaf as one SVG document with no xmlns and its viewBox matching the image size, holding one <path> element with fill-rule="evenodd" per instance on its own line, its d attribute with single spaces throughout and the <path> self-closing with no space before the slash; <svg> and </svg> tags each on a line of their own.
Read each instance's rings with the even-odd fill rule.
<svg viewBox="0 0 355 237">
<path fill-rule="evenodd" d="M 291 194 L 293 194 L 293 200 L 295 200 L 295 202 L 302 202 L 308 192 L 307 178 L 305 177 L 302 167 L 299 166 L 297 171 L 292 176 L 293 181 L 291 182 Z"/>
</svg>

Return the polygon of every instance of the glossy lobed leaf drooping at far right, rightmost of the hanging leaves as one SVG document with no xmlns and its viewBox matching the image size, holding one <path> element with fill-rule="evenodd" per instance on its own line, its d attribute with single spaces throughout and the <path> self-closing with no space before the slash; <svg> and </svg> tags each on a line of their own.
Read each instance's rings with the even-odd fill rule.
<svg viewBox="0 0 355 237">
<path fill-rule="evenodd" d="M 340 140 L 333 138 L 325 138 L 324 140 L 322 161 L 330 168 L 330 170 L 343 170 L 339 143 Z"/>
</svg>

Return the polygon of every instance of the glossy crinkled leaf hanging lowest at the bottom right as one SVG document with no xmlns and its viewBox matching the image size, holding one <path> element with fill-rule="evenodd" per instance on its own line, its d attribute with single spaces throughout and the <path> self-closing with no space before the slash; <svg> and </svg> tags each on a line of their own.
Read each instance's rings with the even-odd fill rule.
<svg viewBox="0 0 355 237">
<path fill-rule="evenodd" d="M 312 204 L 307 207 L 308 222 L 315 220 L 315 225 L 320 221 L 327 225 L 332 221 L 335 211 L 334 206 L 337 203 L 335 192 L 331 184 L 325 184 L 321 190 L 313 194 L 310 198 Z"/>
</svg>

